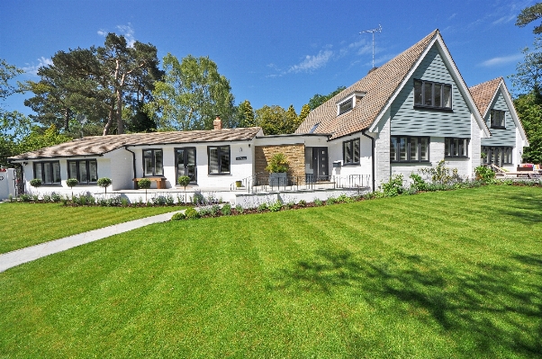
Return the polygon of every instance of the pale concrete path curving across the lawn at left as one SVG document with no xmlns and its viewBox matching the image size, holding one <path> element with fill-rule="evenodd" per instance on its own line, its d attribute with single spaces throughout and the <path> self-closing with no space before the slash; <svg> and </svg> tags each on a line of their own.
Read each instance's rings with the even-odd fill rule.
<svg viewBox="0 0 542 359">
<path fill-rule="evenodd" d="M 113 226 L 105 227 L 103 229 L 90 230 L 85 233 L 80 233 L 74 236 L 51 240 L 50 242 L 41 243 L 32 247 L 26 247 L 7 252 L 0 255 L 0 272 L 4 272 L 6 269 L 14 267 L 16 265 L 22 265 L 26 262 L 31 262 L 42 256 L 49 256 L 54 253 L 65 251 L 69 248 L 84 245 L 89 242 L 94 242 L 98 239 L 108 238 L 115 234 L 127 232 L 132 229 L 139 229 L 140 227 L 148 226 L 149 224 L 166 222 L 171 220 L 171 216 L 177 212 L 171 211 L 163 214 L 158 214 L 152 217 L 142 218 L 140 220 L 131 220 L 129 222 L 114 224 Z"/>
</svg>

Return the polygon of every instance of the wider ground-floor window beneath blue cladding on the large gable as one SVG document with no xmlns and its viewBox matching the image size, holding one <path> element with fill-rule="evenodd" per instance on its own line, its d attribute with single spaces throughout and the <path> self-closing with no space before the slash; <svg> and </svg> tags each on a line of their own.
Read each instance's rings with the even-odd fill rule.
<svg viewBox="0 0 542 359">
<path fill-rule="evenodd" d="M 428 162 L 429 137 L 393 136 L 390 139 L 391 162 Z"/>
</svg>

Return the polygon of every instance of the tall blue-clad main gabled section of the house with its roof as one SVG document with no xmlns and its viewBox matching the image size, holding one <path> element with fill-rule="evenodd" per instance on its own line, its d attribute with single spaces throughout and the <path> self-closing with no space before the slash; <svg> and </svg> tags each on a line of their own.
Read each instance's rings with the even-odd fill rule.
<svg viewBox="0 0 542 359">
<path fill-rule="evenodd" d="M 296 133 L 330 133 L 332 175 L 373 188 L 445 160 L 473 177 L 491 133 L 438 30 L 312 111 Z"/>
</svg>

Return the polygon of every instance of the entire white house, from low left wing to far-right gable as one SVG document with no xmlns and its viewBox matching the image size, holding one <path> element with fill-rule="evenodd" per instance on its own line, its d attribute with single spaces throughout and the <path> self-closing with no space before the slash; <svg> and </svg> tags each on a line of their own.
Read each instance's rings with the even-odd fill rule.
<svg viewBox="0 0 542 359">
<path fill-rule="evenodd" d="M 488 91 L 492 96 L 485 96 Z M 288 184 L 296 189 L 339 184 L 377 190 L 392 175 L 408 178 L 442 160 L 473 177 L 483 144 L 491 154 L 503 148 L 504 155 L 492 155 L 497 159 L 514 148 L 513 161 L 527 144 L 504 83 L 483 94 L 475 88 L 471 94 L 435 30 L 322 103 L 293 134 L 222 129 L 217 117 L 214 130 L 86 137 L 10 160 L 23 166 L 27 189 L 32 178 L 41 178 L 41 192 L 68 190 L 68 178 L 77 178 L 80 189 L 97 191 L 98 177 L 111 178 L 113 191 L 130 190 L 141 177 L 155 180 L 154 188 L 176 189 L 179 175 L 190 176 L 193 190 L 230 191 L 238 181 L 250 188 L 261 184 L 259 176 L 266 176 L 266 164 L 278 152 L 290 161 Z M 484 96 L 490 97 L 487 104 L 478 104 Z M 498 111 L 505 112 L 505 129 L 492 125 Z M 509 139 L 512 123 L 515 145 Z M 495 139 L 489 127 L 498 133 Z"/>
</svg>

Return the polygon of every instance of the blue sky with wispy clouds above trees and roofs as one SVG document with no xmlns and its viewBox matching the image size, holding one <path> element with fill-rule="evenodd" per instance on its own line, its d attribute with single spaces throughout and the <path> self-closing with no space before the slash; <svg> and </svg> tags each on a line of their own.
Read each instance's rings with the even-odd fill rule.
<svg viewBox="0 0 542 359">
<path fill-rule="evenodd" d="M 151 43 L 158 57 L 209 56 L 230 79 L 236 103 L 247 99 L 297 112 L 314 94 L 351 85 L 375 65 L 439 29 L 469 86 L 515 72 L 533 24 L 514 25 L 535 1 L 21 1 L 2 2 L 0 58 L 23 67 L 19 80 L 59 50 L 104 44 L 116 32 Z M 507 80 L 510 87 L 510 81 Z M 8 110 L 32 113 L 24 96 Z"/>
</svg>

